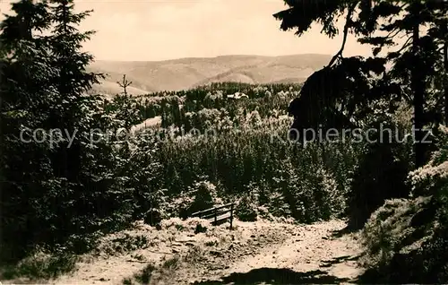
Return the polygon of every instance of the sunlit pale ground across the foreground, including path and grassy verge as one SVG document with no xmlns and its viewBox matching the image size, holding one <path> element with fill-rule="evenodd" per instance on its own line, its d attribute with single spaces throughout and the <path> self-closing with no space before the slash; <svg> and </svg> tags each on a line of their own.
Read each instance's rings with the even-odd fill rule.
<svg viewBox="0 0 448 285">
<path fill-rule="evenodd" d="M 99 255 L 84 256 L 77 271 L 51 283 L 340 284 L 356 282 L 362 272 L 354 260 L 356 235 L 334 236 L 345 227 L 340 220 L 313 225 L 235 221 L 232 231 L 224 224 L 194 234 L 198 222 L 205 224 L 166 220 L 160 230 L 140 223 L 105 238 Z M 155 267 L 151 281 L 135 279 L 149 264 Z"/>
</svg>

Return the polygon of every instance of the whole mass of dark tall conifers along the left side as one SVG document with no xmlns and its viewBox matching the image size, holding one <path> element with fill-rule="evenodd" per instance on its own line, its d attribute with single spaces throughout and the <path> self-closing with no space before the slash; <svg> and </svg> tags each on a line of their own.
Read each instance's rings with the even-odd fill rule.
<svg viewBox="0 0 448 285">
<path fill-rule="evenodd" d="M 22 0 L 12 11 L 0 26 L 1 259 L 39 244 L 88 249 L 132 208 L 113 143 L 90 144 L 91 129 L 125 125 L 85 93 L 101 76 L 86 72 L 92 56 L 81 51 L 92 32 L 77 30 L 90 12 L 75 13 L 73 0 Z"/>
</svg>

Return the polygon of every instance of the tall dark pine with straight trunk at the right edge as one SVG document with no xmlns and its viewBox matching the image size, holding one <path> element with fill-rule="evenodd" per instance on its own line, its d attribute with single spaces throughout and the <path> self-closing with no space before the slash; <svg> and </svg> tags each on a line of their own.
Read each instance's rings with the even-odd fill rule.
<svg viewBox="0 0 448 285">
<path fill-rule="evenodd" d="M 392 81 L 410 87 L 408 97 L 414 107 L 417 167 L 426 163 L 426 146 L 422 142 L 426 133 L 424 127 L 438 121 L 436 117 L 431 116 L 431 110 L 428 108 L 429 92 L 433 87 L 430 82 L 439 76 L 436 72 L 443 73 L 434 68 L 443 58 L 442 53 L 437 52 L 439 39 L 433 37 L 434 32 L 431 29 L 423 28 L 440 24 L 441 19 L 445 18 L 443 15 L 447 13 L 448 4 L 444 1 L 377 1 L 358 22 L 360 26 L 364 25 L 364 28 L 367 26 L 364 23 L 374 22 L 376 30 L 387 33 L 385 36 L 372 36 L 364 32 L 366 36 L 360 39 L 362 43 L 375 46 L 375 56 L 378 56 L 384 47 L 396 47 L 394 43 L 398 41 L 398 37 L 406 39 L 404 44 L 389 52 L 385 58 L 392 63 Z M 383 20 L 381 24 L 380 20 Z"/>
</svg>

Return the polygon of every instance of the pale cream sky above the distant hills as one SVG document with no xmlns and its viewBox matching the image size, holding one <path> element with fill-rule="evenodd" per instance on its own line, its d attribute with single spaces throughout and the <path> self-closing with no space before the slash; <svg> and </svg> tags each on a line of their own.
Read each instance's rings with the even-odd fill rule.
<svg viewBox="0 0 448 285">
<path fill-rule="evenodd" d="M 2 12 L 9 6 L 2 2 Z M 11 1 L 10 1 L 11 2 Z M 314 27 L 298 38 L 280 30 L 273 13 L 282 0 L 75 0 L 77 10 L 94 12 L 82 30 L 97 30 L 85 44 L 97 59 L 163 60 L 179 57 L 334 54 L 340 37 L 327 39 Z M 342 25 L 342 22 L 340 22 Z M 349 39 L 345 56 L 370 48 Z"/>
</svg>

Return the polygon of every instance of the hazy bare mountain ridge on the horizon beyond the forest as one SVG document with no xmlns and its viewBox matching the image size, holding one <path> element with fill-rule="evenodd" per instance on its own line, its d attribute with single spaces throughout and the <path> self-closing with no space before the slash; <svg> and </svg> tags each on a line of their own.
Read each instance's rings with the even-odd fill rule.
<svg viewBox="0 0 448 285">
<path fill-rule="evenodd" d="M 211 82 L 297 83 L 327 65 L 332 56 L 216 56 L 164 61 L 95 61 L 90 71 L 108 73 L 93 91 L 116 94 L 123 74 L 132 81 L 131 94 L 180 91 Z"/>
</svg>

